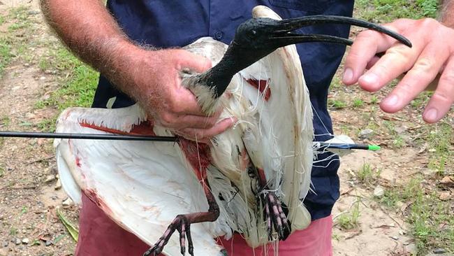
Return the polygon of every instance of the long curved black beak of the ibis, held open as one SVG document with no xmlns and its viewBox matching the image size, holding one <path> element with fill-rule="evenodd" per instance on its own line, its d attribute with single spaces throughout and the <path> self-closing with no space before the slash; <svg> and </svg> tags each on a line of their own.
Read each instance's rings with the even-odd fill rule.
<svg viewBox="0 0 454 256">
<path fill-rule="evenodd" d="M 298 17 L 288 20 L 279 20 L 272 24 L 273 31 L 270 34 L 270 40 L 279 45 L 289 45 L 293 43 L 307 43 L 307 42 L 325 42 L 325 43 L 342 43 L 351 45 L 353 42 L 346 38 L 337 36 L 318 35 L 318 34 L 297 34 L 293 33 L 294 30 L 302 27 L 312 26 L 316 24 L 348 24 L 351 26 L 364 27 L 379 31 L 383 34 L 395 38 L 400 43 L 407 45 L 411 48 L 411 42 L 404 36 L 397 34 L 390 29 L 386 29 L 380 25 L 367 22 L 364 20 L 357 20 L 353 17 L 342 17 L 332 15 L 313 15 L 306 17 Z"/>
</svg>

